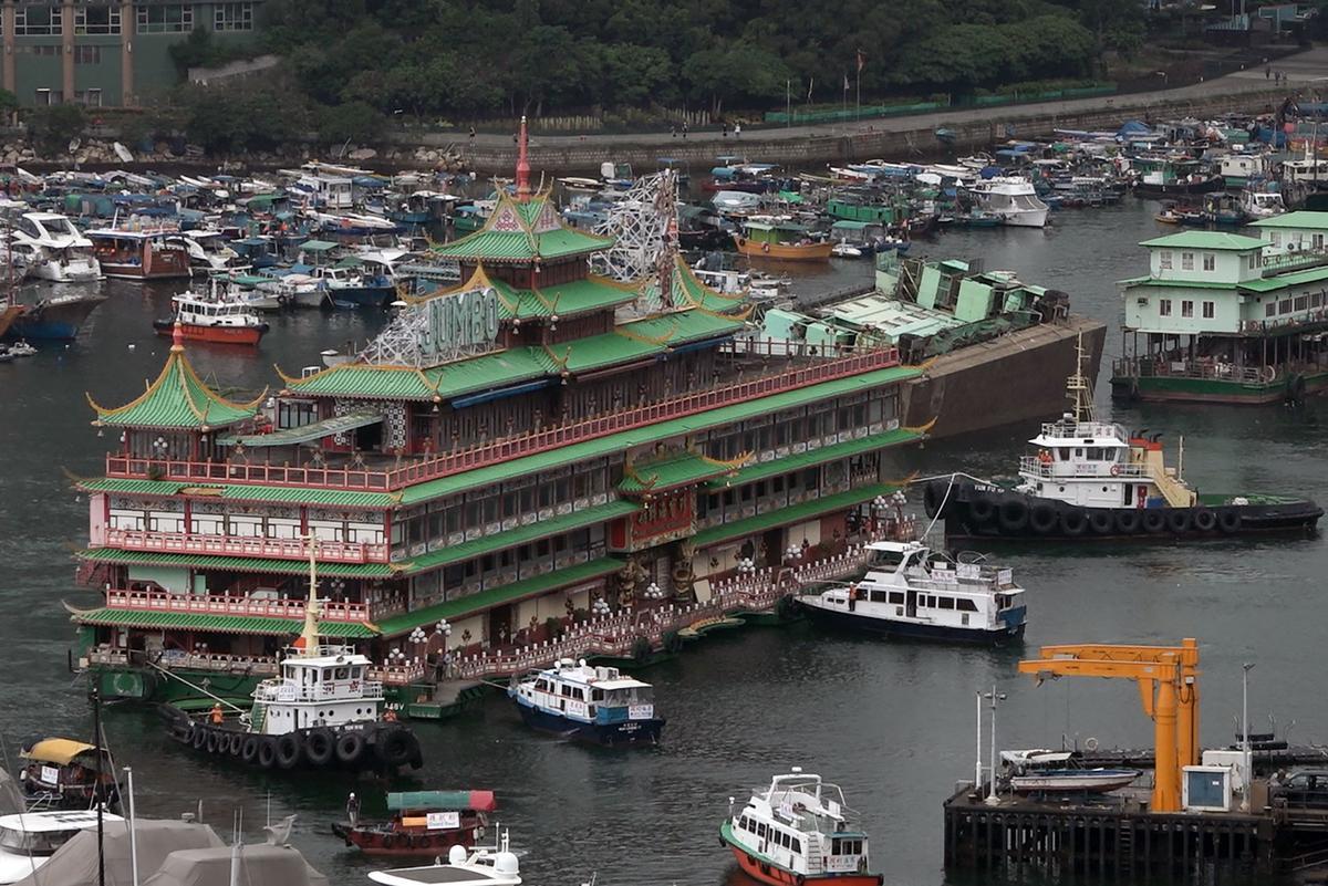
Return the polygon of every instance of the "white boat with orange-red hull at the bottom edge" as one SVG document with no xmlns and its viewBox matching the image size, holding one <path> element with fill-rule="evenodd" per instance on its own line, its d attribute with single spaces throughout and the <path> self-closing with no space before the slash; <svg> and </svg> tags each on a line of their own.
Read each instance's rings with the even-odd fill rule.
<svg viewBox="0 0 1328 886">
<path fill-rule="evenodd" d="M 857 818 L 838 785 L 793 767 L 741 809 L 729 800 L 720 845 L 744 874 L 769 886 L 879 886 Z"/>
</svg>

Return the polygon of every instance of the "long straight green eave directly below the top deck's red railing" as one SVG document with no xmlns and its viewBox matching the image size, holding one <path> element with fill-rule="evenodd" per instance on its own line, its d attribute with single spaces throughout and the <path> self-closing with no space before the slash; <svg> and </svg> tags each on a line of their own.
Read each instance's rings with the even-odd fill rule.
<svg viewBox="0 0 1328 886">
<path fill-rule="evenodd" d="M 657 422 L 655 424 L 647 424 L 644 427 L 622 431 L 619 434 L 610 434 L 594 440 L 572 443 L 571 446 L 550 450 L 547 452 L 538 452 L 535 455 L 511 459 L 510 462 L 503 462 L 502 464 L 491 464 L 475 468 L 474 471 L 454 474 L 452 476 L 429 480 L 426 483 L 417 483 L 416 485 L 408 487 L 402 491 L 401 503 L 414 504 L 416 501 L 425 501 L 428 499 L 437 499 L 454 492 L 462 492 L 465 489 L 474 489 L 475 487 L 499 483 L 502 480 L 523 476 L 526 474 L 534 474 L 537 471 L 548 471 L 564 464 L 574 464 L 576 462 L 599 458 L 611 452 L 622 452 L 633 446 L 667 440 L 673 436 L 704 431 L 718 424 L 741 422 L 756 415 L 766 415 L 769 412 L 814 403 L 817 401 L 838 397 L 841 394 L 853 394 L 861 390 L 879 387 L 882 385 L 902 382 L 915 378 L 920 373 L 922 370 L 912 366 L 878 369 L 861 375 L 837 378 L 830 382 L 809 385 L 806 387 L 784 391 L 782 394 L 772 394 L 770 397 L 762 397 L 745 403 L 721 406 L 705 412 L 697 412 L 696 415 L 687 415 L 684 418 Z"/>
</svg>

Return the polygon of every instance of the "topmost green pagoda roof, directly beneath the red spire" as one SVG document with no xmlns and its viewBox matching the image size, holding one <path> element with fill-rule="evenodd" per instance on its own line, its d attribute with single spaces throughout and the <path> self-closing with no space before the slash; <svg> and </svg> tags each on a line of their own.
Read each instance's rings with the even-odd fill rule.
<svg viewBox="0 0 1328 886">
<path fill-rule="evenodd" d="M 614 237 L 586 233 L 563 223 L 550 191 L 529 200 L 499 191 L 485 227 L 452 243 L 433 247 L 440 259 L 533 264 L 607 249 Z"/>
</svg>

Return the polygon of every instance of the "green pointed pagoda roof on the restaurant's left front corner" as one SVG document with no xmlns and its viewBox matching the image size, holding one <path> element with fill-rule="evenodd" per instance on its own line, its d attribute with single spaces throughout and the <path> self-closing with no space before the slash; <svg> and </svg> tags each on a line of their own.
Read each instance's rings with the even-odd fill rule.
<svg viewBox="0 0 1328 886">
<path fill-rule="evenodd" d="M 116 409 L 101 406 L 92 394 L 88 402 L 97 410 L 97 426 L 206 431 L 254 418 L 264 397 L 267 389 L 248 403 L 239 403 L 214 391 L 194 371 L 177 336 L 157 381 L 135 399 Z"/>
</svg>

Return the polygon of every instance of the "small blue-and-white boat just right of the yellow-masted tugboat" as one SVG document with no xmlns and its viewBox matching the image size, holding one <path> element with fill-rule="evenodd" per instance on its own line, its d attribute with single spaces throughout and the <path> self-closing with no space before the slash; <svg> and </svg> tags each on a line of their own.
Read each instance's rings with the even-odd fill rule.
<svg viewBox="0 0 1328 886">
<path fill-rule="evenodd" d="M 649 683 L 584 661 L 514 676 L 507 696 L 529 726 L 596 744 L 655 744 L 664 728 Z"/>
</svg>

